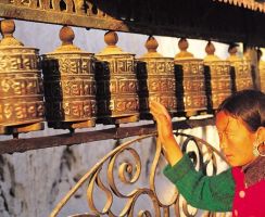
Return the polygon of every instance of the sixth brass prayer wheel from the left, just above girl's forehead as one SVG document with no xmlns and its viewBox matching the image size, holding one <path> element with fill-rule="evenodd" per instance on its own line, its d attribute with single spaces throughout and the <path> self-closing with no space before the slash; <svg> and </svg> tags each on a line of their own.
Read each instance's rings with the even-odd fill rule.
<svg viewBox="0 0 265 217">
<path fill-rule="evenodd" d="M 205 48 L 204 73 L 209 110 L 216 110 L 218 105 L 231 94 L 232 81 L 230 76 L 230 62 L 223 61 L 214 54 L 214 44 L 209 41 Z"/>
</svg>

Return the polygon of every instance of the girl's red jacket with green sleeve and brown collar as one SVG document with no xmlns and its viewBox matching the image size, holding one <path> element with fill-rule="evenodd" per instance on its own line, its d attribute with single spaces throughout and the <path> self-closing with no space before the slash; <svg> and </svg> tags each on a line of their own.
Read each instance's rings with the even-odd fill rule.
<svg viewBox="0 0 265 217">
<path fill-rule="evenodd" d="M 230 212 L 234 217 L 265 217 L 265 157 L 216 176 L 197 171 L 186 154 L 165 176 L 194 207 Z"/>
</svg>

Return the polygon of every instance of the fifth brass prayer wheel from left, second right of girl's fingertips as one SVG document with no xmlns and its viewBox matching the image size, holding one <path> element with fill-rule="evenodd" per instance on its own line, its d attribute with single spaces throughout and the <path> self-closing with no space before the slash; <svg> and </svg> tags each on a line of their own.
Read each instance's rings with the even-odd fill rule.
<svg viewBox="0 0 265 217">
<path fill-rule="evenodd" d="M 188 41 L 181 38 L 178 42 L 180 52 L 175 55 L 175 74 L 178 113 L 186 116 L 195 115 L 207 110 L 203 60 L 195 59 L 187 51 Z"/>
</svg>

